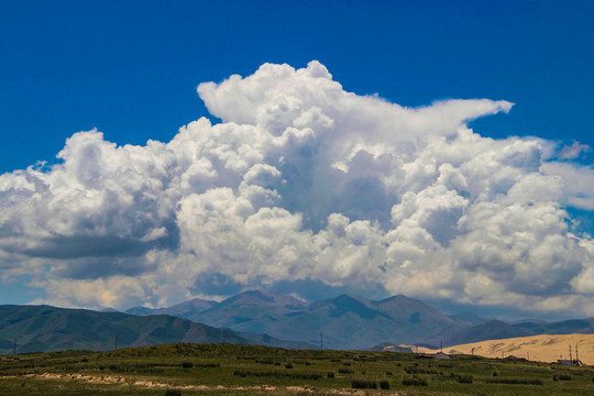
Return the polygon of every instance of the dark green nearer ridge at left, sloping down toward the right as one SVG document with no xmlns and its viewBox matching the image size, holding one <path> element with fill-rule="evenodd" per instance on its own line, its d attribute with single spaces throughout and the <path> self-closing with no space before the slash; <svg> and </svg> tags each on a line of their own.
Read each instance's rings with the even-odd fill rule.
<svg viewBox="0 0 594 396">
<path fill-rule="evenodd" d="M 175 342 L 267 344 L 304 346 L 260 334 L 238 334 L 169 316 L 138 317 L 122 312 L 96 312 L 50 306 L 0 306 L 0 352 L 109 350 Z"/>
</svg>

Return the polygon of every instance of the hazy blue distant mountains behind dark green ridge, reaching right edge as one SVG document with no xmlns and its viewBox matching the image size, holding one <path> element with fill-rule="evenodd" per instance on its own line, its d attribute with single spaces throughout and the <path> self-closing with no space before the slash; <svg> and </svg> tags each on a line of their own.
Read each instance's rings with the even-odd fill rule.
<svg viewBox="0 0 594 396">
<path fill-rule="evenodd" d="M 190 304 L 208 308 L 184 308 Z M 180 316 L 213 327 L 318 345 L 321 332 L 323 344 L 333 349 L 365 349 L 380 343 L 436 346 L 443 342 L 455 345 L 510 337 L 594 333 L 594 318 L 507 323 L 474 314 L 446 316 L 422 301 L 402 295 L 378 301 L 356 295 L 304 301 L 292 296 L 251 290 L 221 302 L 194 299 L 170 308 L 132 308 L 127 312 Z"/>
</svg>

